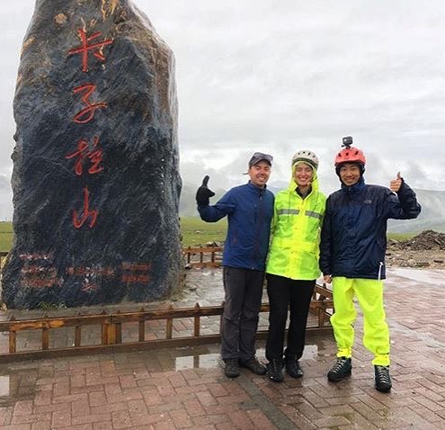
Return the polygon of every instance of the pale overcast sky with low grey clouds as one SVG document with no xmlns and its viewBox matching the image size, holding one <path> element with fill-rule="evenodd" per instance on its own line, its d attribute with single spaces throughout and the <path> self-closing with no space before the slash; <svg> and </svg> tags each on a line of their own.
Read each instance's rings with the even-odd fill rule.
<svg viewBox="0 0 445 430">
<path fill-rule="evenodd" d="M 352 135 L 369 183 L 400 170 L 408 184 L 445 190 L 443 0 L 136 0 L 174 49 L 181 175 L 210 188 L 245 182 L 260 150 L 271 183 L 289 181 L 298 149 L 321 158 L 326 193 L 333 158 Z M 12 103 L 34 0 L 2 2 L 0 220 L 11 219 Z"/>
</svg>

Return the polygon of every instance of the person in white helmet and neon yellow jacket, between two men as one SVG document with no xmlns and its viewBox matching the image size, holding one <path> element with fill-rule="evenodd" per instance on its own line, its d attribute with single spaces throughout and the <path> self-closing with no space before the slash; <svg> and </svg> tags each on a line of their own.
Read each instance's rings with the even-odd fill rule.
<svg viewBox="0 0 445 430">
<path fill-rule="evenodd" d="M 283 367 L 292 378 L 303 376 L 298 360 L 305 347 L 307 313 L 320 275 L 318 246 L 326 202 L 325 194 L 318 191 L 316 154 L 298 151 L 291 166 L 289 188 L 275 197 L 266 265 L 271 307 L 266 342 L 267 375 L 274 382 L 283 381 Z M 283 351 L 288 309 L 289 333 Z"/>
</svg>

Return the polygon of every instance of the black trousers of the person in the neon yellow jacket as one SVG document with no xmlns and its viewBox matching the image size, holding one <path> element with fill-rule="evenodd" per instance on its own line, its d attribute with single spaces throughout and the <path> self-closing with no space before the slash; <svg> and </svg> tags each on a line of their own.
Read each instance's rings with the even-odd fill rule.
<svg viewBox="0 0 445 430">
<path fill-rule="evenodd" d="M 271 310 L 269 313 L 269 334 L 266 342 L 266 358 L 283 358 L 284 332 L 288 319 L 288 345 L 285 358 L 298 360 L 305 349 L 307 314 L 314 293 L 316 280 L 296 281 L 275 274 L 267 274 L 267 293 Z"/>
</svg>

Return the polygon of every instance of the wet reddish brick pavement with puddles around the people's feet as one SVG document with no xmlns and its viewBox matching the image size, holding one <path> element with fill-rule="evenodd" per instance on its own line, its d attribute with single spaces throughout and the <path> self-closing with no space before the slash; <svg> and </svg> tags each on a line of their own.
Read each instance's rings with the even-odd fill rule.
<svg viewBox="0 0 445 430">
<path fill-rule="evenodd" d="M 174 307 L 219 304 L 220 273 L 189 272 Z M 443 429 L 444 275 L 388 270 L 389 394 L 373 387 L 359 317 L 352 376 L 338 383 L 325 377 L 335 353 L 329 334 L 307 337 L 304 378 L 282 383 L 247 370 L 225 378 L 218 345 L 2 364 L 0 429 Z"/>
</svg>

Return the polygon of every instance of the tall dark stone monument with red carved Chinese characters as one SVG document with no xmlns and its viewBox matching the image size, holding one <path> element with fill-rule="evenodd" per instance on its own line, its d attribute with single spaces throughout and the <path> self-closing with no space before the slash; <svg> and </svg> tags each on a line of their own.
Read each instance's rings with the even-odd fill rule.
<svg viewBox="0 0 445 430">
<path fill-rule="evenodd" d="M 13 102 L 9 308 L 156 300 L 181 274 L 174 57 L 130 0 L 37 0 Z"/>
</svg>

